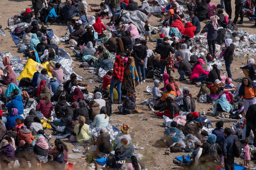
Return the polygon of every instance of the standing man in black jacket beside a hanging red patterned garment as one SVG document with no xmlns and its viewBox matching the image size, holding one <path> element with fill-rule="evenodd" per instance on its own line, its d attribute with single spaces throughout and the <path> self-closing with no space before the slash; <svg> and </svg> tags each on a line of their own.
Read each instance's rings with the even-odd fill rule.
<svg viewBox="0 0 256 170">
<path fill-rule="evenodd" d="M 175 53 L 174 49 L 169 44 L 168 40 L 169 39 L 167 37 L 164 37 L 164 42 L 160 43 L 156 47 L 156 53 L 161 55 L 161 58 L 160 58 L 161 74 L 164 74 L 164 69 L 167 64 L 167 62 L 165 60 L 168 57 L 169 53 L 170 52 L 172 52 L 172 54 Z M 169 69 L 166 69 L 166 70 L 167 70 L 167 74 L 169 74 L 171 76 L 171 71 Z"/>
</svg>

